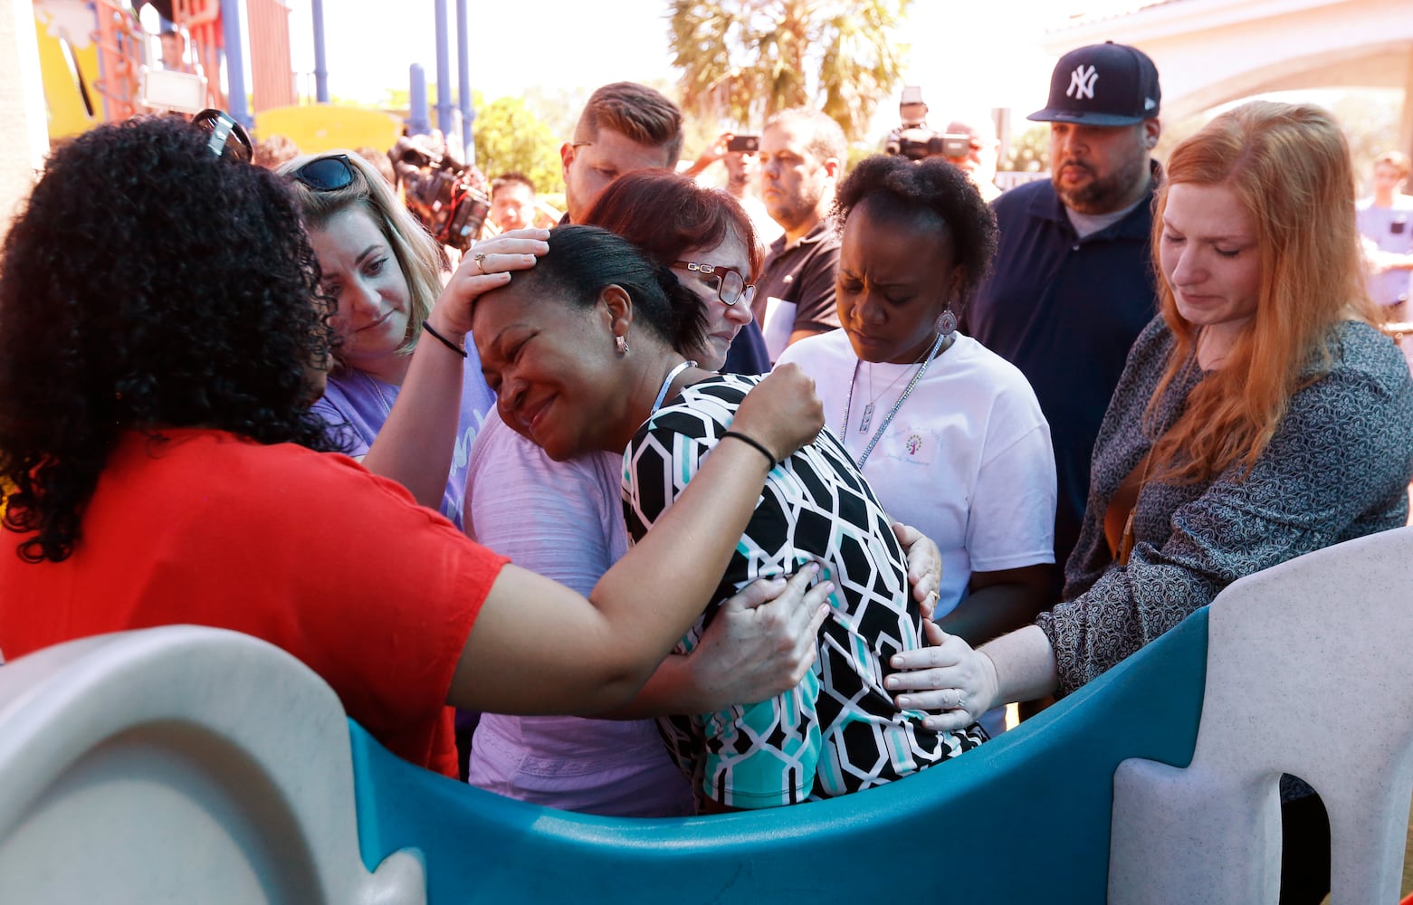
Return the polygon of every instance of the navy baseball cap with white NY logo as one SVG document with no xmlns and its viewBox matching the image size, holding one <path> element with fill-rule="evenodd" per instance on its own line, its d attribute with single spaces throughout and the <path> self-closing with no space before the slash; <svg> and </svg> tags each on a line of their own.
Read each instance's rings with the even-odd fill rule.
<svg viewBox="0 0 1413 905">
<path fill-rule="evenodd" d="M 1027 120 L 1132 126 L 1157 116 L 1157 66 L 1128 44 L 1091 44 L 1070 51 L 1050 76 L 1050 103 Z"/>
</svg>

